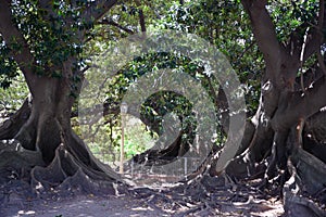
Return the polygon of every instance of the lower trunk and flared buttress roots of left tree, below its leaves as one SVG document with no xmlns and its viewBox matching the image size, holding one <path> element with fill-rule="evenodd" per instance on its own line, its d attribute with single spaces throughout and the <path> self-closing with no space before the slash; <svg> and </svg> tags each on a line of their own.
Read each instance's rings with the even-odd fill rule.
<svg viewBox="0 0 326 217">
<path fill-rule="evenodd" d="M 33 88 L 33 100 L 26 100 L 0 128 L 0 139 L 15 139 L 11 144 L 2 142 L 0 169 L 12 168 L 14 171 L 8 173 L 47 190 L 75 187 L 113 193 L 111 183 L 120 179 L 118 175 L 96 159 L 72 131 L 74 98 L 68 79 L 43 77 Z"/>
</svg>

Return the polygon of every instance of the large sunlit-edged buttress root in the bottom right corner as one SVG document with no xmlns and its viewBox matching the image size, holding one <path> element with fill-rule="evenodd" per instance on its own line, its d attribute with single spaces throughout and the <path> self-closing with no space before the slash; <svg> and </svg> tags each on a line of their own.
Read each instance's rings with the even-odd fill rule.
<svg viewBox="0 0 326 217">
<path fill-rule="evenodd" d="M 291 178 L 284 187 L 284 206 L 288 216 L 326 216 L 326 207 L 316 196 L 326 184 L 325 164 L 302 149 L 288 161 Z M 325 196 L 325 195 L 324 195 Z M 325 200 L 325 199 L 324 199 Z"/>
</svg>

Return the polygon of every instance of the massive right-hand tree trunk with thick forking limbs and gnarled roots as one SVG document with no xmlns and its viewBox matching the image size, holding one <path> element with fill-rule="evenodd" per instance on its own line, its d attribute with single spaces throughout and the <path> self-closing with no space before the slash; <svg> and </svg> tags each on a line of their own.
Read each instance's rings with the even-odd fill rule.
<svg viewBox="0 0 326 217">
<path fill-rule="evenodd" d="M 313 29 L 308 33 L 309 40 L 304 41 L 303 37 L 298 38 L 296 34 L 302 28 L 299 26 L 291 35 L 289 44 L 283 46 L 277 40 L 265 9 L 267 1 L 241 2 L 250 16 L 266 69 L 262 80 L 260 107 L 251 119 L 255 129 L 253 137 L 251 140 L 244 137 L 238 157 L 227 165 L 226 173 L 237 178 L 246 177 L 247 180 L 261 178 L 262 188 L 267 188 L 268 183 L 275 184 L 278 193 L 284 193 L 285 209 L 290 216 L 294 209 L 302 210 L 301 215 L 325 216 L 326 212 L 305 196 L 310 195 L 319 203 L 325 203 L 326 174 L 323 162 L 326 156 L 319 154 L 319 158 L 316 158 L 302 149 L 305 146 L 311 153 L 321 152 L 315 143 L 314 146 L 302 144 L 308 139 L 302 139 L 302 136 L 309 136 L 302 131 L 304 124 L 308 124 L 306 129 L 312 129 L 312 119 L 316 120 L 312 116 L 321 113 L 319 110 L 326 104 L 326 78 L 317 67 L 314 80 L 308 78 L 309 72 L 302 80 L 296 79 L 302 63 L 313 53 L 319 52 L 323 36 L 318 29 Z M 323 1 L 319 7 L 319 26 L 323 26 Z M 319 62 L 319 66 L 323 64 Z M 244 148 L 247 150 L 241 153 Z M 210 173 L 215 175 L 221 171 L 211 167 Z"/>
</svg>

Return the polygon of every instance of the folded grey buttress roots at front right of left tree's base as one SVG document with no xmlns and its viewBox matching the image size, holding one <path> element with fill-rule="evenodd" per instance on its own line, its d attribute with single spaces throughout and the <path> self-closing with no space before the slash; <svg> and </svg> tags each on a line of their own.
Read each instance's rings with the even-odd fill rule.
<svg viewBox="0 0 326 217">
<path fill-rule="evenodd" d="M 64 192 L 115 194 L 114 174 L 93 169 L 74 157 L 64 145 L 55 151 L 48 167 L 36 166 L 32 170 L 32 184 L 38 193 L 54 189 Z"/>
</svg>

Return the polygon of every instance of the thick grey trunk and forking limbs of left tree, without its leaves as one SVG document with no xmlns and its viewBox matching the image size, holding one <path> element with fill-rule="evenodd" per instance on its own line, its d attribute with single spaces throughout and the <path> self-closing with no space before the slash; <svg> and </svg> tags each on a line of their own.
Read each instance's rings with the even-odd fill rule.
<svg viewBox="0 0 326 217">
<path fill-rule="evenodd" d="M 97 161 L 87 145 L 72 131 L 71 112 L 75 100 L 72 95 L 78 95 L 82 84 L 77 80 L 83 80 L 84 72 L 77 66 L 78 52 L 71 53 L 71 47 L 73 43 L 83 43 L 90 24 L 101 18 L 116 1 L 93 1 L 82 9 L 76 2 L 70 2 L 72 9 L 80 10 L 80 21 L 88 24 L 88 27 L 78 29 L 75 28 L 73 15 L 59 17 L 53 2 L 38 1 L 34 7 L 39 20 L 33 25 L 37 26 L 38 22 L 48 23 L 47 30 L 53 36 L 57 33 L 51 25 L 60 23 L 63 34 L 71 36 L 70 42 L 67 39 L 53 38 L 55 43 L 65 44 L 60 49 L 66 49 L 70 55 L 62 58 L 61 62 L 53 61 L 46 65 L 40 64 L 42 60 L 35 54 L 30 44 L 34 40 L 26 39 L 32 36 L 26 36 L 18 27 L 23 21 L 17 21 L 15 14 L 12 14 L 13 1 L 0 0 L 0 3 L 1 37 L 11 52 L 11 58 L 24 74 L 32 94 L 32 100 L 26 101 L 11 119 L 0 126 L 0 170 L 3 171 L 1 183 L 11 183 L 11 179 L 18 179 L 37 186 L 34 189 L 38 191 L 60 187 L 113 191 L 112 181 L 120 177 L 109 166 Z M 40 39 L 40 43 L 52 44 L 50 38 L 52 39 L 49 37 L 48 41 Z M 49 48 L 45 46 L 42 49 Z M 54 74 L 55 78 L 52 76 Z"/>
</svg>

